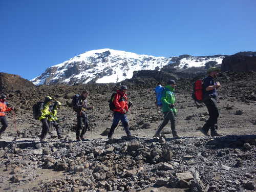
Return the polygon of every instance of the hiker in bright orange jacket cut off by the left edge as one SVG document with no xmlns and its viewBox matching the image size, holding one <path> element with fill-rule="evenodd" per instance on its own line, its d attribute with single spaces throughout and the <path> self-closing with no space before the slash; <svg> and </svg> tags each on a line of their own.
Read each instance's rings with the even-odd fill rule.
<svg viewBox="0 0 256 192">
<path fill-rule="evenodd" d="M 7 111 L 11 111 L 11 110 L 14 110 L 14 108 L 9 108 L 8 107 L 8 102 L 6 101 L 7 97 L 6 95 L 1 95 L 0 97 L 0 121 L 2 123 L 2 128 L 0 129 L 0 138 L 1 137 L 1 134 L 6 130 L 7 126 L 8 126 L 8 122 L 6 120 L 6 117 L 5 117 L 5 112 Z"/>
</svg>

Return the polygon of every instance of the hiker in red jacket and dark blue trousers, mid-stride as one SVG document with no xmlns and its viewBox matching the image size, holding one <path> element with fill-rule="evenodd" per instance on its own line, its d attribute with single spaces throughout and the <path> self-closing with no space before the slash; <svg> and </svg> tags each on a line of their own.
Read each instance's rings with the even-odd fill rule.
<svg viewBox="0 0 256 192">
<path fill-rule="evenodd" d="M 127 87 L 121 86 L 119 90 L 116 91 L 116 94 L 114 95 L 113 104 L 113 122 L 110 128 L 110 132 L 108 135 L 108 140 L 113 140 L 113 134 L 115 131 L 115 128 L 117 127 L 119 121 L 121 120 L 122 125 L 124 127 L 125 133 L 127 135 L 127 138 L 132 139 L 135 136 L 133 136 L 130 132 L 129 128 L 129 120 L 127 118 L 126 112 L 129 110 L 129 104 L 128 104 L 128 98 L 127 98 Z"/>
</svg>

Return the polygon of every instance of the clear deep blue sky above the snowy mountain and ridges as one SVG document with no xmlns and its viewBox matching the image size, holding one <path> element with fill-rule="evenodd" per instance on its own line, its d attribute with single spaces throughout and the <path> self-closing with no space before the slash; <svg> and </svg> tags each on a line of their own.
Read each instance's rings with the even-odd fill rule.
<svg viewBox="0 0 256 192">
<path fill-rule="evenodd" d="M 165 57 L 256 51 L 255 22 L 255 0 L 0 0 L 0 72 L 30 80 L 104 48 Z"/>
</svg>

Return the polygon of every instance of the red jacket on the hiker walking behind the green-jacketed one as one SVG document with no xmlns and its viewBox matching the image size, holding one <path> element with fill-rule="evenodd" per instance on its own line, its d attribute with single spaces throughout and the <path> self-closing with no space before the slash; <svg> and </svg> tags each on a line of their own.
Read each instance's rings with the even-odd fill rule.
<svg viewBox="0 0 256 192">
<path fill-rule="evenodd" d="M 114 111 L 123 113 L 123 109 L 128 111 L 128 98 L 126 94 L 123 94 L 122 91 L 117 91 L 117 94 L 114 97 L 113 103 L 115 105 Z"/>
</svg>

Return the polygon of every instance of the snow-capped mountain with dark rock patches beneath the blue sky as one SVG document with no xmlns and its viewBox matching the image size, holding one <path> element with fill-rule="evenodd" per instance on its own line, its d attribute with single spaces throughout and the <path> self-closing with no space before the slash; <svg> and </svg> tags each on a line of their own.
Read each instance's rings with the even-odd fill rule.
<svg viewBox="0 0 256 192">
<path fill-rule="evenodd" d="M 92 50 L 48 68 L 31 81 L 36 85 L 120 82 L 132 78 L 134 71 L 161 70 L 166 65 L 183 69 L 202 67 L 209 61 L 220 64 L 223 58 L 223 55 L 205 57 L 183 55 L 166 58 L 112 49 Z"/>
</svg>

